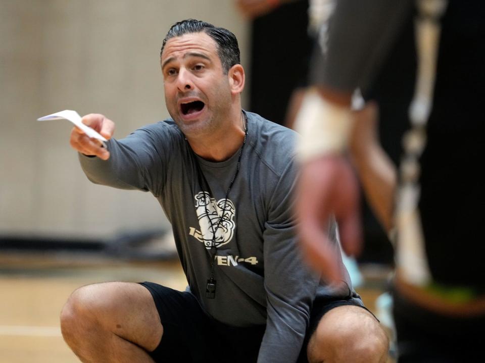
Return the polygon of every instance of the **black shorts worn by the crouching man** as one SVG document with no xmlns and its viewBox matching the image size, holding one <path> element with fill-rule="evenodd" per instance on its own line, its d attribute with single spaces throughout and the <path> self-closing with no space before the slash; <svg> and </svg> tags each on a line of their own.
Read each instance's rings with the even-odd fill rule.
<svg viewBox="0 0 485 363">
<path fill-rule="evenodd" d="M 163 326 L 159 346 L 150 353 L 156 362 L 256 362 L 266 325 L 239 328 L 222 324 L 210 317 L 197 298 L 188 291 L 143 282 L 153 296 Z M 360 304 L 359 299 L 314 301 L 303 348 L 298 360 L 307 362 L 308 340 L 322 316 L 342 305 Z M 362 306 L 363 307 L 363 306 Z M 365 308 L 365 307 L 363 307 Z"/>
</svg>

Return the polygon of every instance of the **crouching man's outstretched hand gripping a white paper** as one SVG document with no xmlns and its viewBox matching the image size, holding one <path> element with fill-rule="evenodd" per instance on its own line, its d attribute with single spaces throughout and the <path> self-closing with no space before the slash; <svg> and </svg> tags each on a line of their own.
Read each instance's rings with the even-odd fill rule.
<svg viewBox="0 0 485 363">
<path fill-rule="evenodd" d="M 83 116 L 82 123 L 98 131 L 108 140 L 111 139 L 115 131 L 115 123 L 100 114 Z M 103 160 L 108 160 L 110 157 L 109 151 L 98 140 L 88 137 L 77 127 L 74 127 L 71 131 L 70 143 L 75 150 L 85 155 L 95 155 Z"/>
</svg>

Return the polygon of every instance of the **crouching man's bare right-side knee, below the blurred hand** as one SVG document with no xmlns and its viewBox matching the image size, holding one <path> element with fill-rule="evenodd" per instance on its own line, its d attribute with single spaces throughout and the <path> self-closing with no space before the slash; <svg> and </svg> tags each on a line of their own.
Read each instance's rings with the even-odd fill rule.
<svg viewBox="0 0 485 363">
<path fill-rule="evenodd" d="M 320 319 L 308 342 L 309 363 L 384 363 L 389 340 L 379 322 L 362 307 L 342 305 Z"/>
</svg>

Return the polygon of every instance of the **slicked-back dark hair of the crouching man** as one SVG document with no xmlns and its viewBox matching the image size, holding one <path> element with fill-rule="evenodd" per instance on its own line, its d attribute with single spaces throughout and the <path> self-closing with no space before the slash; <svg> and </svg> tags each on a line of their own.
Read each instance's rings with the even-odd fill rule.
<svg viewBox="0 0 485 363">
<path fill-rule="evenodd" d="M 182 20 L 172 25 L 165 39 L 163 39 L 160 57 L 162 57 L 163 48 L 168 39 L 183 34 L 200 32 L 208 34 L 217 43 L 217 54 L 221 60 L 224 73 L 227 73 L 233 65 L 240 63 L 239 46 L 237 45 L 237 39 L 234 34 L 227 29 L 195 19 Z"/>
</svg>

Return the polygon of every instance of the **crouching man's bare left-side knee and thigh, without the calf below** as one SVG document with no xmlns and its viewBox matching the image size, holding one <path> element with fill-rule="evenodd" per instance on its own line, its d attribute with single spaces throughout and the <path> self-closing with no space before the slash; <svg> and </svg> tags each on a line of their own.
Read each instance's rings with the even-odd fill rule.
<svg viewBox="0 0 485 363">
<path fill-rule="evenodd" d="M 107 282 L 75 290 L 61 312 L 61 331 L 71 348 L 98 344 L 112 335 L 155 349 L 163 327 L 151 293 L 127 282 Z"/>
</svg>

